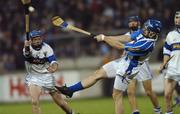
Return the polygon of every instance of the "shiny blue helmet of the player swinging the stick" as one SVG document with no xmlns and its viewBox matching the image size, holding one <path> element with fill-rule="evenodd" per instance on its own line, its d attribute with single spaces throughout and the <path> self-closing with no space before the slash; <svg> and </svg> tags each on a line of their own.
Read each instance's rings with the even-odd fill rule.
<svg viewBox="0 0 180 114">
<path fill-rule="evenodd" d="M 162 29 L 162 24 L 158 20 L 149 19 L 144 23 L 144 27 L 152 32 L 160 33 Z"/>
</svg>

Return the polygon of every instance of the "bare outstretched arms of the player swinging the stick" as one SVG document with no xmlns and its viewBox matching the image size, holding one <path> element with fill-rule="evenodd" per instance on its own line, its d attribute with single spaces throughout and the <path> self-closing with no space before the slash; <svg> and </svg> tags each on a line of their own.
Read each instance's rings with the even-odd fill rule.
<svg viewBox="0 0 180 114">
<path fill-rule="evenodd" d="M 100 34 L 95 38 L 97 39 L 97 41 L 105 41 L 107 44 L 117 49 L 124 49 L 124 43 L 131 41 L 131 38 L 128 35 L 105 36 L 103 34 Z"/>
</svg>

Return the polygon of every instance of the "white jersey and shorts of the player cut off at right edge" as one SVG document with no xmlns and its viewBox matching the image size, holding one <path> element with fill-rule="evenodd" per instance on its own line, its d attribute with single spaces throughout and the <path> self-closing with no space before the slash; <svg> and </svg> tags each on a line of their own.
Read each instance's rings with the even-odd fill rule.
<svg viewBox="0 0 180 114">
<path fill-rule="evenodd" d="M 163 54 L 172 57 L 168 62 L 167 73 L 180 75 L 180 32 L 173 30 L 168 33 Z"/>
</svg>

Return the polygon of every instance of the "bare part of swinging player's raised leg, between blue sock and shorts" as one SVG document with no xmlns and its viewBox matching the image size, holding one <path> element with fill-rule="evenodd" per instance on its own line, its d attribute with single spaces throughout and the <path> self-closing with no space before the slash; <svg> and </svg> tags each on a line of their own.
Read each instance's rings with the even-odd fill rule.
<svg viewBox="0 0 180 114">
<path fill-rule="evenodd" d="M 90 75 L 88 78 L 81 81 L 82 86 L 84 88 L 89 88 L 93 86 L 98 80 L 107 78 L 107 74 L 103 68 L 94 72 L 94 74 Z"/>
</svg>

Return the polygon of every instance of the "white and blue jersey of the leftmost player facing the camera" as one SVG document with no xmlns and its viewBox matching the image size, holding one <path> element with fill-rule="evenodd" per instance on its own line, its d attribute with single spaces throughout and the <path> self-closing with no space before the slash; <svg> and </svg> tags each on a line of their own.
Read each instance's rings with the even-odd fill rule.
<svg viewBox="0 0 180 114">
<path fill-rule="evenodd" d="M 26 56 L 25 49 L 23 55 L 25 57 L 26 70 L 29 74 L 45 74 L 48 73 L 47 68 L 50 64 L 56 62 L 53 49 L 46 43 L 37 51 L 30 46 L 30 56 Z"/>
</svg>

